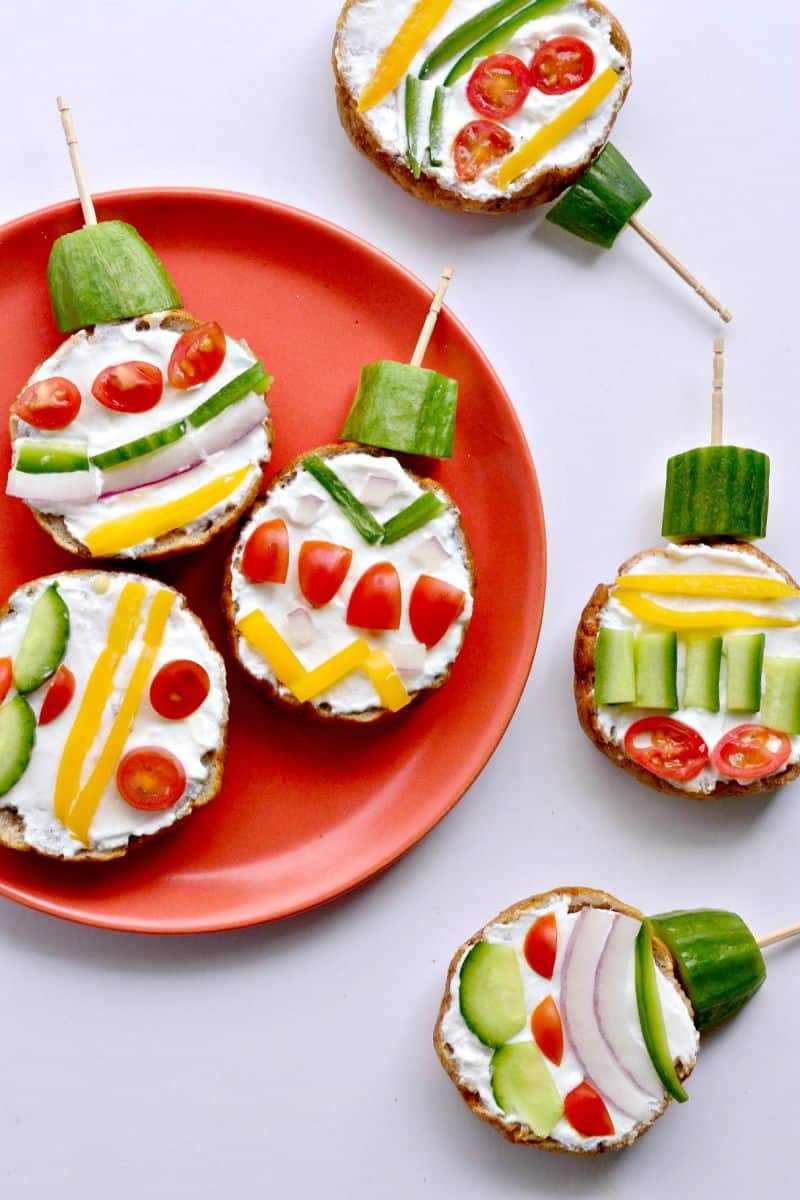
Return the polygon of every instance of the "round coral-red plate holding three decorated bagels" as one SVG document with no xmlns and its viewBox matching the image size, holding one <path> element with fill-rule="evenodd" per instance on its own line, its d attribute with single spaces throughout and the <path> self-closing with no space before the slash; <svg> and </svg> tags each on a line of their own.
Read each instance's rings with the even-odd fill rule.
<svg viewBox="0 0 800 1200">
<path fill-rule="evenodd" d="M 361 366 L 408 359 L 431 302 L 431 292 L 378 250 L 281 204 L 181 188 L 116 192 L 97 208 L 101 220 L 134 224 L 186 307 L 247 338 L 275 374 L 271 470 L 337 439 Z M 0 229 L 6 407 L 60 341 L 47 259 L 54 239 L 79 223 L 78 205 L 62 204 Z M 545 523 L 511 403 L 447 312 L 426 364 L 461 383 L 456 454 L 434 474 L 462 508 L 479 580 L 446 686 L 384 726 L 327 728 L 281 712 L 229 664 L 229 757 L 218 799 L 116 863 L 76 865 L 0 848 L 1 894 L 108 929 L 233 929 L 347 892 L 456 804 L 500 740 L 530 670 L 545 600 Z M 6 421 L 0 426 L 5 468 Z M 154 571 L 186 593 L 221 647 L 228 545 Z M 0 496 L 0 598 L 76 565 L 19 502 Z"/>
</svg>

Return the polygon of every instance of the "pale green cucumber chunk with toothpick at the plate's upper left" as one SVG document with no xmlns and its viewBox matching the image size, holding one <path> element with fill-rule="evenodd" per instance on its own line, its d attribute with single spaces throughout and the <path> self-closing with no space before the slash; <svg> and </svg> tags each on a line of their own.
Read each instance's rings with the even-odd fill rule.
<svg viewBox="0 0 800 1200">
<path fill-rule="evenodd" d="M 181 307 L 167 268 L 124 221 L 101 221 L 59 238 L 47 286 L 62 334 Z"/>
</svg>

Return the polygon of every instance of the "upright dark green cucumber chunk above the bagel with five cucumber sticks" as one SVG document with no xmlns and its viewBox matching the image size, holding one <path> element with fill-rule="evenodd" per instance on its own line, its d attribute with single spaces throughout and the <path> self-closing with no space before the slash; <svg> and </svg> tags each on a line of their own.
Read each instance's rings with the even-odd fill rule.
<svg viewBox="0 0 800 1200">
<path fill-rule="evenodd" d="M 763 538 L 770 461 L 758 450 L 700 446 L 667 463 L 664 538 Z"/>
</svg>

